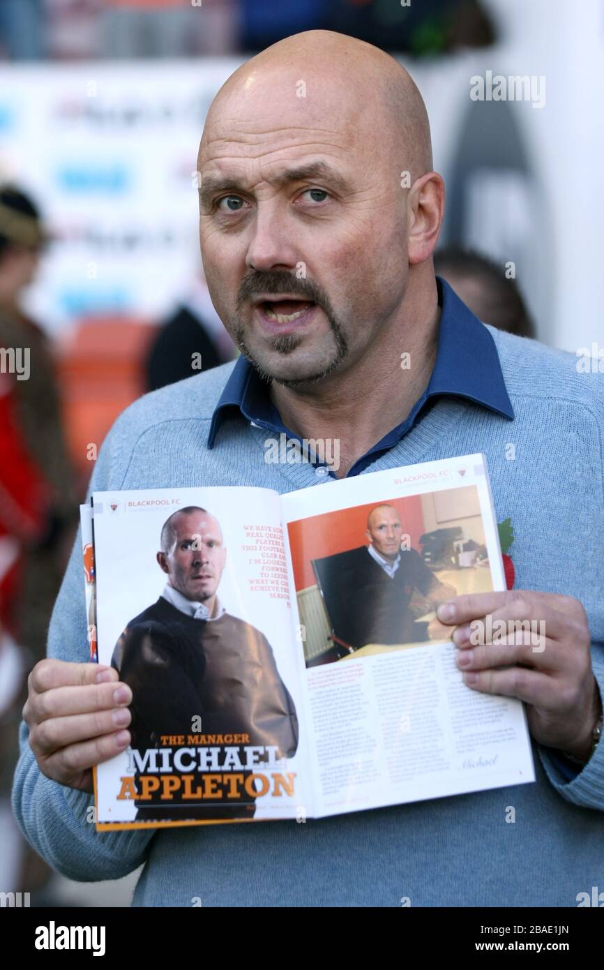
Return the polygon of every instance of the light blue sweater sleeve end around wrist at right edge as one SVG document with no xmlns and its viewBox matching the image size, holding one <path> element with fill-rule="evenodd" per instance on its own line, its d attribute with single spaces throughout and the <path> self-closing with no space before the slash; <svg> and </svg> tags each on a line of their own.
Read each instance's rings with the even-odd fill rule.
<svg viewBox="0 0 604 970">
<path fill-rule="evenodd" d="M 604 644 L 591 644 L 591 663 L 600 696 L 604 699 Z M 575 805 L 604 812 L 604 741 L 602 739 L 596 745 L 588 763 L 583 768 L 577 765 L 577 774 L 570 781 L 567 773 L 560 770 L 555 752 L 542 745 L 537 745 L 537 749 L 556 792 Z"/>
</svg>

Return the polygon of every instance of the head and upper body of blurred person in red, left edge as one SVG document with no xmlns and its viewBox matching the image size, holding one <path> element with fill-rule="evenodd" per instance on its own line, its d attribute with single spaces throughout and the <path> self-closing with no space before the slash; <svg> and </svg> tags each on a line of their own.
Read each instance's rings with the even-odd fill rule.
<svg viewBox="0 0 604 970">
<path fill-rule="evenodd" d="M 78 506 L 48 339 L 20 308 L 48 236 L 32 200 L 0 187 L 0 621 L 45 656 Z"/>
</svg>

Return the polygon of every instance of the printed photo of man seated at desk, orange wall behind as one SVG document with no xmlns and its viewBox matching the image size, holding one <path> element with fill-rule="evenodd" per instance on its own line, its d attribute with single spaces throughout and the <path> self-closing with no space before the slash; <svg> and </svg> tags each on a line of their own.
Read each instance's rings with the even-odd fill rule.
<svg viewBox="0 0 604 970">
<path fill-rule="evenodd" d="M 442 643 L 438 604 L 494 589 L 475 485 L 387 495 L 288 528 L 306 667 Z"/>
</svg>

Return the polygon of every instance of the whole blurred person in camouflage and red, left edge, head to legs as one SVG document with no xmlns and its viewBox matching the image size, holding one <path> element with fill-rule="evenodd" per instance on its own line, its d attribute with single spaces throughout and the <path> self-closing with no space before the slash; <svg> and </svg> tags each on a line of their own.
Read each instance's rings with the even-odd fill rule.
<svg viewBox="0 0 604 970">
<path fill-rule="evenodd" d="M 31 893 L 34 905 L 51 901 L 51 870 L 22 838 L 10 792 L 27 676 L 46 652 L 71 511 L 47 340 L 19 308 L 45 242 L 32 201 L 0 187 L 0 876 L 3 889 Z"/>
</svg>

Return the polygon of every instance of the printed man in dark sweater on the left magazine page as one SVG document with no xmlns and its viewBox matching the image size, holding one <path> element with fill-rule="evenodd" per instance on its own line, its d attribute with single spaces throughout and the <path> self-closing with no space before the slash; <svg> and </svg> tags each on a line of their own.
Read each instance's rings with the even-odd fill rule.
<svg viewBox="0 0 604 970">
<path fill-rule="evenodd" d="M 226 558 L 220 525 L 205 508 L 187 506 L 164 523 L 157 563 L 168 581 L 157 601 L 127 624 L 111 659 L 132 691 L 131 747 L 142 757 L 162 747 L 162 735 L 191 734 L 244 738 L 229 743 L 239 748 L 241 763 L 250 745 L 274 746 L 277 759 L 296 754 L 296 707 L 267 637 L 218 600 Z M 160 792 L 137 798 L 136 821 L 252 819 L 256 799 L 244 789 L 252 772 L 241 774 L 237 797 L 221 782 L 198 800 L 179 797 L 182 789 L 169 801 Z M 193 789 L 206 792 L 198 781 Z M 140 794 L 140 772 L 136 785 Z"/>
</svg>

